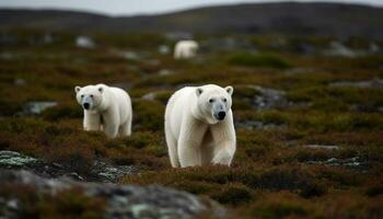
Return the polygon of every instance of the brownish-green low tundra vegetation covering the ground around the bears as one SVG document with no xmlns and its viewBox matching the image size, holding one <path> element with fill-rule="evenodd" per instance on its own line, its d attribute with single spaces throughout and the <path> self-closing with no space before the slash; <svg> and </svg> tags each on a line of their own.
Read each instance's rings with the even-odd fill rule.
<svg viewBox="0 0 383 219">
<path fill-rule="evenodd" d="M 89 34 L 94 48 L 78 48 L 73 33 L 51 33 L 49 44 L 31 43 L 42 31 L 11 33 L 18 44 L 3 45 L 0 56 L 0 150 L 62 164 L 85 181 L 95 160 L 134 165 L 139 174 L 117 183 L 187 191 L 217 200 L 234 218 L 383 217 L 382 51 L 326 56 L 322 51 L 338 41 L 330 37 L 199 35 L 201 45 L 230 37 L 254 49 L 202 47 L 193 59 L 174 60 L 158 47 L 175 42 L 158 34 Z M 344 44 L 369 45 L 363 38 Z M 131 137 L 82 130 L 73 87 L 100 82 L 131 95 Z M 166 101 L 183 85 L 207 83 L 234 88 L 232 166 L 172 169 Z M 36 114 L 26 107 L 32 102 L 57 104 Z M 103 200 L 76 191 L 39 196 L 8 185 L 0 195 L 21 197 L 28 218 L 95 218 L 104 209 Z"/>
</svg>

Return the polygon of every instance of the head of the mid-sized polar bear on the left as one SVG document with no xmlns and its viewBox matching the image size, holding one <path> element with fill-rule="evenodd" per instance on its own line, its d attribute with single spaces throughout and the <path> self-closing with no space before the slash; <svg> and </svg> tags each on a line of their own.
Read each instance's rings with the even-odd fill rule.
<svg viewBox="0 0 383 219">
<path fill-rule="evenodd" d="M 92 111 L 101 105 L 103 101 L 103 85 L 86 85 L 86 87 L 76 87 L 76 99 L 77 102 L 85 110 Z"/>
</svg>

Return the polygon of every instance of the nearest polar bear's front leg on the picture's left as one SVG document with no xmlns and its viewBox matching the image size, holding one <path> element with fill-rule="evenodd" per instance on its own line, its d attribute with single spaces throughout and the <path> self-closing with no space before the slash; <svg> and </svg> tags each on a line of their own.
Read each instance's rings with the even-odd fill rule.
<svg viewBox="0 0 383 219">
<path fill-rule="evenodd" d="M 207 125 L 189 118 L 183 123 L 178 139 L 178 158 L 181 168 L 202 164 L 201 142 Z"/>
</svg>

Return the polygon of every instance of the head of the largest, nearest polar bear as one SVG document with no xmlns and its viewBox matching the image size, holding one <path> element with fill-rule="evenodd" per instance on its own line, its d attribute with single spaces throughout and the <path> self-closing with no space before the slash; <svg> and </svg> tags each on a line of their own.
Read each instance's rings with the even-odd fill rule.
<svg viewBox="0 0 383 219">
<path fill-rule="evenodd" d="M 196 88 L 197 107 L 209 124 L 223 122 L 231 110 L 233 88 L 221 88 L 213 84 Z"/>
</svg>

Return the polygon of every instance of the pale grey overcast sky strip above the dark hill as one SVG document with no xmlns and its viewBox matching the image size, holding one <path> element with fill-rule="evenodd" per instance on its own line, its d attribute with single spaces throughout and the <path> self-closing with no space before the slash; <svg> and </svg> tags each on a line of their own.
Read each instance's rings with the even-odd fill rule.
<svg viewBox="0 0 383 219">
<path fill-rule="evenodd" d="M 65 9 L 90 11 L 108 15 L 153 14 L 189 8 L 275 0 L 0 0 L 0 8 Z M 280 0 L 279 0 L 280 1 Z M 295 0 L 297 1 L 297 0 Z M 298 0 L 315 1 L 315 0 Z M 317 1 L 317 0 L 316 0 Z M 383 0 L 325 0 L 383 7 Z"/>
</svg>

